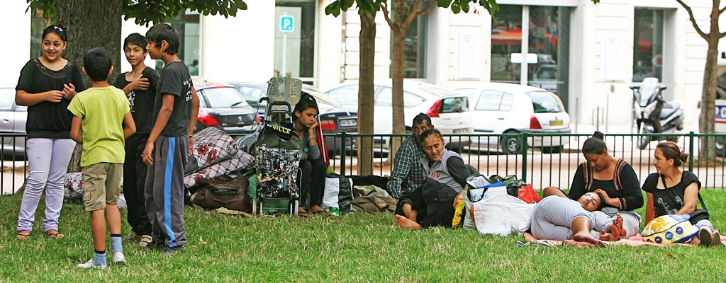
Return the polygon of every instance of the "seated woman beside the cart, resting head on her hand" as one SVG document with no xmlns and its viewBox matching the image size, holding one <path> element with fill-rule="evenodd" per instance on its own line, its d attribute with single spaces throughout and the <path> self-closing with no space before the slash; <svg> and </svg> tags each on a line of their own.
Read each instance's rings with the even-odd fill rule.
<svg viewBox="0 0 726 283">
<path fill-rule="evenodd" d="M 295 104 L 293 111 L 295 132 L 303 141 L 303 155 L 298 175 L 298 185 L 300 186 L 298 215 L 303 217 L 310 217 L 312 214 L 330 216 L 329 212 L 320 207 L 325 190 L 327 164 L 320 158 L 320 149 L 317 145 L 315 135 L 318 127 L 317 115 L 317 101 L 309 94 L 303 94 L 298 104 Z M 308 210 L 305 210 L 305 207 Z"/>
</svg>

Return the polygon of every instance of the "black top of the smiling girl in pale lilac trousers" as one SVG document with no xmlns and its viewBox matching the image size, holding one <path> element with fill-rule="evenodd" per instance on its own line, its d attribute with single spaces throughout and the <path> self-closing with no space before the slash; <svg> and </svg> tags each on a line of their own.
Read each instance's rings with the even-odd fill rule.
<svg viewBox="0 0 726 283">
<path fill-rule="evenodd" d="M 62 69 L 53 70 L 45 67 L 40 59 L 33 58 L 20 70 L 15 90 L 43 93 L 63 90 L 66 83 L 73 83 L 77 93 L 86 90 L 81 70 L 73 62 L 68 61 Z M 28 138 L 70 138 L 73 114 L 68 111 L 68 104 L 70 100 L 62 98 L 60 102 L 43 101 L 28 106 L 28 121 L 25 123 Z"/>
</svg>

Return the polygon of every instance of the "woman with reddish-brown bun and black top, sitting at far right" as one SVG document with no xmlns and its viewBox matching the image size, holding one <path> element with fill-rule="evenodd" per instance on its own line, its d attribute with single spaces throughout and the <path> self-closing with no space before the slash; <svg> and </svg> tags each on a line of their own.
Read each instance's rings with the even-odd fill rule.
<svg viewBox="0 0 726 283">
<path fill-rule="evenodd" d="M 681 170 L 683 162 L 687 160 L 688 153 L 683 153 L 675 143 L 658 143 L 653 159 L 657 172 L 648 175 L 643 184 L 643 190 L 648 197 L 648 202 L 645 203 L 645 223 L 650 223 L 658 216 L 683 215 L 696 211 L 701 182 L 696 174 Z M 708 218 L 692 218 L 690 223 L 700 229 L 696 237 L 688 240 L 690 244 L 723 245 L 720 233 L 714 232 L 714 226 Z"/>
</svg>

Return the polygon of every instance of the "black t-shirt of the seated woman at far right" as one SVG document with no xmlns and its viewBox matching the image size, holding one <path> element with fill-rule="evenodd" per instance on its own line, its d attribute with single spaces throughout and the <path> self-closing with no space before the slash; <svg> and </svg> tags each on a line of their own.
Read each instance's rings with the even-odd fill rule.
<svg viewBox="0 0 726 283">
<path fill-rule="evenodd" d="M 653 194 L 653 209 L 656 211 L 656 217 L 676 214 L 683 207 L 683 195 L 688 185 L 696 183 L 698 190 L 701 190 L 701 181 L 698 181 L 696 174 L 688 171 L 683 172 L 681 181 L 673 187 L 663 188 L 665 184 L 663 187 L 657 187 L 660 178 L 660 174 L 653 173 L 648 175 L 643 183 L 643 190 Z"/>
</svg>

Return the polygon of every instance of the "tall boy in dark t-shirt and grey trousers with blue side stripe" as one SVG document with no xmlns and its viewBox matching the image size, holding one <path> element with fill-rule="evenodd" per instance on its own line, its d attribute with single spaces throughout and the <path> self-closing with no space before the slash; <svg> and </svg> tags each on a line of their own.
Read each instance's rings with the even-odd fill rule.
<svg viewBox="0 0 726 283">
<path fill-rule="evenodd" d="M 156 88 L 155 119 L 142 153 L 149 166 L 144 197 L 152 228 L 147 248 L 163 245 L 162 255 L 184 253 L 184 165 L 192 151 L 199 97 L 179 51 L 179 33 L 167 24 L 146 33 L 151 59 L 164 62 Z M 157 161 L 155 164 L 154 161 Z M 157 165 L 158 164 L 158 165 Z"/>
</svg>

